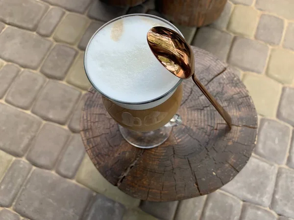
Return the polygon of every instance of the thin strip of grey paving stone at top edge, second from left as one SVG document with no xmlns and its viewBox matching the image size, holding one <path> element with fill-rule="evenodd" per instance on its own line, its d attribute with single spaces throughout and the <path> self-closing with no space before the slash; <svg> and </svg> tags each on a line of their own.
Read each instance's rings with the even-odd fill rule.
<svg viewBox="0 0 294 220">
<path fill-rule="evenodd" d="M 84 13 L 91 0 L 44 0 L 50 4 L 60 6 L 69 11 Z"/>
</svg>

